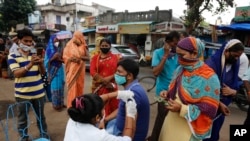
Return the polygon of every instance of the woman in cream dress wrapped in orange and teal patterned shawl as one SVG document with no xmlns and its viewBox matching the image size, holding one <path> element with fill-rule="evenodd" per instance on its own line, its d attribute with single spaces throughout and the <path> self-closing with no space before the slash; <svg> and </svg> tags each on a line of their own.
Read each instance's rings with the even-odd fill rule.
<svg viewBox="0 0 250 141">
<path fill-rule="evenodd" d="M 204 49 L 203 43 L 194 37 L 178 42 L 180 66 L 168 91 L 161 92 L 169 112 L 159 141 L 198 141 L 211 134 L 219 106 L 220 82 L 215 72 L 199 59 Z"/>
</svg>

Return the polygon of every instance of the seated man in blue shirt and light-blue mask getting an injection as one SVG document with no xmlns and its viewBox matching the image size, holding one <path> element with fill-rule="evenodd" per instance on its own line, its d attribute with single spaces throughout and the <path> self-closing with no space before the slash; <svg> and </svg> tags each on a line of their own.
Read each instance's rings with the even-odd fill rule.
<svg viewBox="0 0 250 141">
<path fill-rule="evenodd" d="M 115 74 L 115 82 L 124 87 L 125 91 L 117 91 L 118 99 L 126 99 L 132 96 L 137 104 L 136 129 L 133 141 L 144 141 L 146 139 L 149 128 L 149 100 L 146 91 L 138 82 L 137 75 L 139 73 L 139 64 L 132 59 L 124 59 L 119 61 Z M 127 97 L 123 97 L 123 94 Z M 126 103 L 119 101 L 116 123 L 114 126 L 114 135 L 122 135 L 123 130 L 129 130 L 125 127 Z"/>
</svg>

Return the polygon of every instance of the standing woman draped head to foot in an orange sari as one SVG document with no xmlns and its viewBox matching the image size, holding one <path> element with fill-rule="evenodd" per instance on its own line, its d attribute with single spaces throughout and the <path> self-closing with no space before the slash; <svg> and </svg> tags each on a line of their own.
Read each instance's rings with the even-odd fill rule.
<svg viewBox="0 0 250 141">
<path fill-rule="evenodd" d="M 73 38 L 63 50 L 66 85 L 68 88 L 67 108 L 76 97 L 83 94 L 85 61 L 89 60 L 87 44 L 80 31 L 75 31 Z"/>
</svg>

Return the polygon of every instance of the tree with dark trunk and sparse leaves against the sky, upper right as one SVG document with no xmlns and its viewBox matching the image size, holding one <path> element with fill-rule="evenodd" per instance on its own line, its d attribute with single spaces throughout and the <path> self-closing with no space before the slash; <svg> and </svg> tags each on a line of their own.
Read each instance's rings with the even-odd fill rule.
<svg viewBox="0 0 250 141">
<path fill-rule="evenodd" d="M 214 7 L 212 2 L 217 2 L 218 6 Z M 187 10 L 184 10 L 185 16 L 181 17 L 185 21 L 187 32 L 192 32 L 202 21 L 202 13 L 207 10 L 213 15 L 220 14 L 228 10 L 229 7 L 234 7 L 234 0 L 186 0 Z"/>
</svg>

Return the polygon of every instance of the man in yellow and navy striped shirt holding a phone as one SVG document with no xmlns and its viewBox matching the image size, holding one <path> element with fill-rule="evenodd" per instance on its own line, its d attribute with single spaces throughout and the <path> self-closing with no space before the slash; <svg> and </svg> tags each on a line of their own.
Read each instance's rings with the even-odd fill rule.
<svg viewBox="0 0 250 141">
<path fill-rule="evenodd" d="M 15 99 L 16 102 L 31 102 L 36 115 L 40 135 L 44 137 L 47 124 L 44 116 L 44 87 L 41 74 L 45 73 L 42 58 L 31 53 L 33 34 L 29 29 L 18 32 L 19 44 L 17 50 L 8 56 L 10 69 L 15 77 Z M 18 131 L 21 140 L 28 140 L 27 116 L 25 104 L 18 106 Z M 41 123 L 40 123 L 41 122 Z M 42 130 L 43 129 L 43 130 Z"/>
</svg>

